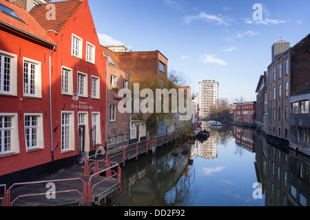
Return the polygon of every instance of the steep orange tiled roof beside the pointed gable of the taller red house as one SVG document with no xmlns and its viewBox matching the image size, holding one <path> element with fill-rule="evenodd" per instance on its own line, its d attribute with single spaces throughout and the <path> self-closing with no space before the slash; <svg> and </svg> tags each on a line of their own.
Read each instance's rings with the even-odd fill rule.
<svg viewBox="0 0 310 220">
<path fill-rule="evenodd" d="M 35 5 L 30 14 L 45 30 L 54 30 L 55 32 L 61 32 L 65 25 L 79 9 L 83 0 L 69 0 L 69 1 L 57 1 L 52 4 L 55 6 L 56 19 L 46 19 L 46 13 L 50 9 L 46 9 L 45 4 Z"/>
</svg>

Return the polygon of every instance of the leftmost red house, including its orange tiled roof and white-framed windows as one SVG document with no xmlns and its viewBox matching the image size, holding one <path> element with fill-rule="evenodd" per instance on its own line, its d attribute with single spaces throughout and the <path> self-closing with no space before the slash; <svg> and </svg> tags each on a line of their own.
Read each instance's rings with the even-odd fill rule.
<svg viewBox="0 0 310 220">
<path fill-rule="evenodd" d="M 49 168 L 49 57 L 55 41 L 23 8 L 0 0 L 0 176 L 30 179 Z M 2 182 L 2 181 L 0 181 Z"/>
</svg>

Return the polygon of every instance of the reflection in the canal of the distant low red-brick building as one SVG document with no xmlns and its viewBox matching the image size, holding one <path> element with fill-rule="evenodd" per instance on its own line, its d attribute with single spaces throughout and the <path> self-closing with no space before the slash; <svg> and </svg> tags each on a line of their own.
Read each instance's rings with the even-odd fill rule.
<svg viewBox="0 0 310 220">
<path fill-rule="evenodd" d="M 234 126 L 234 137 L 238 146 L 251 152 L 256 151 L 256 134 L 254 129 Z"/>
</svg>

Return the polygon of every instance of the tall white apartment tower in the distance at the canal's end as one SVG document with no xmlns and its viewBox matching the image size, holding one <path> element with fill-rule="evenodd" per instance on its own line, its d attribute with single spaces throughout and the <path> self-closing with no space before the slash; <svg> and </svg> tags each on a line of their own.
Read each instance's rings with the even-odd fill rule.
<svg viewBox="0 0 310 220">
<path fill-rule="evenodd" d="M 218 103 L 218 83 L 214 80 L 203 80 L 199 83 L 199 117 L 207 118 L 211 107 Z"/>
</svg>

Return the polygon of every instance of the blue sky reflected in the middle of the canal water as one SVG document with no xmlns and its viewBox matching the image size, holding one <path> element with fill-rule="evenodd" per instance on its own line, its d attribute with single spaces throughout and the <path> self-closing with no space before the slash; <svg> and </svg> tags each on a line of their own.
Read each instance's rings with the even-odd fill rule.
<svg viewBox="0 0 310 220">
<path fill-rule="evenodd" d="M 184 184 L 178 183 L 165 195 L 167 204 L 177 206 L 264 206 L 262 199 L 254 199 L 252 194 L 257 182 L 254 166 L 255 153 L 236 146 L 234 138 L 227 142 L 218 141 L 218 155 L 214 159 L 192 157 L 194 164 L 189 168 L 190 178 L 186 187 L 190 198 L 178 203 L 175 198 Z M 184 180 L 183 180 L 184 181 Z M 185 180 L 186 181 L 186 180 Z M 191 192 L 192 191 L 192 192 Z M 180 196 L 182 197 L 182 196 Z M 184 199 L 184 198 L 183 198 Z"/>
</svg>

